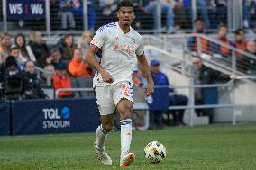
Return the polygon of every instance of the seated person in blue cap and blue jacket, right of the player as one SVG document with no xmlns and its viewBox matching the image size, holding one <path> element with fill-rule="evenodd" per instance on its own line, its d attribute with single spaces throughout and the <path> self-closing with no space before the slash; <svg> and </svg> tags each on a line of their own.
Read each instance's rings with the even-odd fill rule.
<svg viewBox="0 0 256 170">
<path fill-rule="evenodd" d="M 160 72 L 160 62 L 157 59 L 151 60 L 151 76 L 153 78 L 154 85 L 171 86 L 169 84 L 169 80 L 166 74 L 163 72 Z M 176 94 L 173 88 L 169 88 L 169 105 L 170 106 L 186 106 L 187 102 L 188 102 L 188 98 L 186 95 Z M 153 113 L 154 115 L 151 115 L 151 116 L 155 116 L 154 121 L 158 125 L 160 125 L 160 122 L 162 121 L 162 112 L 163 111 L 157 111 Z M 183 121 L 184 112 L 185 112 L 184 109 L 169 111 L 169 113 L 171 113 L 173 116 L 174 125 L 177 125 L 177 126 L 186 125 Z"/>
</svg>

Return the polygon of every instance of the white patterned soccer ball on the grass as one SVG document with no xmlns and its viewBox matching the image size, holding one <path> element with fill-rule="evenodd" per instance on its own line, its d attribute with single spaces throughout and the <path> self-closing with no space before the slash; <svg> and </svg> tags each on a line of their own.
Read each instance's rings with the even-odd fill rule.
<svg viewBox="0 0 256 170">
<path fill-rule="evenodd" d="M 166 148 L 160 142 L 152 141 L 144 148 L 144 156 L 151 163 L 159 163 L 166 157 Z"/>
</svg>

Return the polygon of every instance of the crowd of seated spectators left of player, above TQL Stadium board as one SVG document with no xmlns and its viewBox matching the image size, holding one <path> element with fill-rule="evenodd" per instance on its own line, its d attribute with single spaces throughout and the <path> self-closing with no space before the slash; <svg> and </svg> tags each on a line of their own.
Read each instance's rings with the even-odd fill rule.
<svg viewBox="0 0 256 170">
<path fill-rule="evenodd" d="M 72 78 L 92 79 L 94 69 L 85 58 L 92 37 L 92 32 L 86 31 L 75 42 L 73 35 L 67 33 L 55 45 L 48 46 L 38 30 L 32 31 L 27 38 L 23 33 L 17 33 L 14 42 L 8 33 L 3 33 L 0 37 L 1 99 L 47 98 L 41 85 L 52 85 L 58 90 L 71 88 Z M 42 74 L 38 74 L 35 67 L 43 70 Z M 91 87 L 85 85 L 79 87 Z M 58 98 L 72 96 L 72 92 L 58 94 Z"/>
</svg>

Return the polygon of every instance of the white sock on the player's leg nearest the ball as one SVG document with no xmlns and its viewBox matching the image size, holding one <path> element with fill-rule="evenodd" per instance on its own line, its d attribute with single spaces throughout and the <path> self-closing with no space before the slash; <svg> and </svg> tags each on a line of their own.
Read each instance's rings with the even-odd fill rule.
<svg viewBox="0 0 256 170">
<path fill-rule="evenodd" d="M 122 158 L 126 154 L 129 153 L 130 150 L 130 144 L 132 141 L 132 120 L 126 119 L 120 121 L 121 124 L 121 155 Z"/>
</svg>

